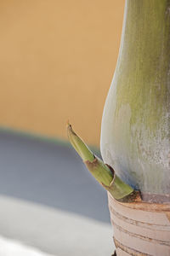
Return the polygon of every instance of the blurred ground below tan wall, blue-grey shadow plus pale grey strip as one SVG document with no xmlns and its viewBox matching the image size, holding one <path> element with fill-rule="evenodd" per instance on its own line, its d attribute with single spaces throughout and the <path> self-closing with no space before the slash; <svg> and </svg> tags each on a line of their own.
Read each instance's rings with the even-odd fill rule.
<svg viewBox="0 0 170 256">
<path fill-rule="evenodd" d="M 111 255 L 106 193 L 71 148 L 2 131 L 0 162 L 0 235 L 57 256 Z"/>
</svg>

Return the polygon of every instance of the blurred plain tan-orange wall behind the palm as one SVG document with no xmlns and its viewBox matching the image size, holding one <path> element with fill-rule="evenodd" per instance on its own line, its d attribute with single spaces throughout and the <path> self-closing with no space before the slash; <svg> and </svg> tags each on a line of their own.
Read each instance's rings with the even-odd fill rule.
<svg viewBox="0 0 170 256">
<path fill-rule="evenodd" d="M 0 125 L 99 146 L 124 0 L 0 1 Z"/>
</svg>

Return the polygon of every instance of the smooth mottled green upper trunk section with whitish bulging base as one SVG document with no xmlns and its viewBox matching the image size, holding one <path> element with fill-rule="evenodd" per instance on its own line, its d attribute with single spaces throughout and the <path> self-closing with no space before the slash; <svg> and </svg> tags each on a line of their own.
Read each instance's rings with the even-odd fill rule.
<svg viewBox="0 0 170 256">
<path fill-rule="evenodd" d="M 122 180 L 170 194 L 170 1 L 127 0 L 101 153 Z"/>
</svg>

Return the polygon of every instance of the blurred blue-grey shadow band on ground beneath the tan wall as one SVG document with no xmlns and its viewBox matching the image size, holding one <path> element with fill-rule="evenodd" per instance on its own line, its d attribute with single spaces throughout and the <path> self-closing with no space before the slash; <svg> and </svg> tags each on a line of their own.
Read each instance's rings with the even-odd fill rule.
<svg viewBox="0 0 170 256">
<path fill-rule="evenodd" d="M 0 132 L 0 194 L 110 222 L 107 195 L 65 145 Z"/>
</svg>

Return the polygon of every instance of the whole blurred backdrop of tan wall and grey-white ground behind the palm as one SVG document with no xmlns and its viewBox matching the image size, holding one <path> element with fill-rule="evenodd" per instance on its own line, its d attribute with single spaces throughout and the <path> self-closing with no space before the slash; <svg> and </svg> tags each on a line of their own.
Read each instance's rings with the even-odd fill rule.
<svg viewBox="0 0 170 256">
<path fill-rule="evenodd" d="M 107 195 L 65 124 L 99 155 L 124 2 L 0 2 L 0 256 L 114 251 Z"/>
</svg>

